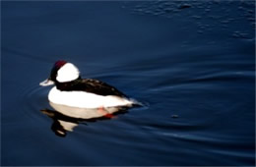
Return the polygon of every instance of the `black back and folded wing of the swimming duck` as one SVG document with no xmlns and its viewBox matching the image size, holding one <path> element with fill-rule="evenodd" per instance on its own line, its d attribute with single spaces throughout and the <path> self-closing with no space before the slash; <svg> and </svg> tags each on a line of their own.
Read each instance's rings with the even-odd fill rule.
<svg viewBox="0 0 256 167">
<path fill-rule="evenodd" d="M 57 85 L 57 88 L 65 91 L 78 90 L 92 92 L 98 95 L 117 95 L 127 97 L 117 88 L 95 79 L 79 79 L 70 83 L 61 83 Z"/>
</svg>

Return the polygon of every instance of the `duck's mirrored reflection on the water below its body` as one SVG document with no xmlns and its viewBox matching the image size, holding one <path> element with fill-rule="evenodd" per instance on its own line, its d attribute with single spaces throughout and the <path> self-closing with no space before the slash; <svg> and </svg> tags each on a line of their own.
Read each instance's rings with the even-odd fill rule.
<svg viewBox="0 0 256 167">
<path fill-rule="evenodd" d="M 117 114 L 126 113 L 128 107 L 108 108 L 77 108 L 49 102 L 55 110 L 42 109 L 43 114 L 52 119 L 51 130 L 59 137 L 66 137 L 67 132 L 73 132 L 80 123 L 96 122 L 116 117 Z"/>
</svg>

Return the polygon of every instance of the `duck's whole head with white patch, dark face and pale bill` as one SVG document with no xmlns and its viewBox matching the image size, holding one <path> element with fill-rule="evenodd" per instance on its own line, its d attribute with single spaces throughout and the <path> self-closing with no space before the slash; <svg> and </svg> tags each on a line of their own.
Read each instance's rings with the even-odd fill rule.
<svg viewBox="0 0 256 167">
<path fill-rule="evenodd" d="M 46 86 L 54 83 L 67 83 L 79 78 L 79 70 L 75 65 L 64 60 L 59 60 L 53 65 L 50 77 L 39 84 Z"/>
</svg>

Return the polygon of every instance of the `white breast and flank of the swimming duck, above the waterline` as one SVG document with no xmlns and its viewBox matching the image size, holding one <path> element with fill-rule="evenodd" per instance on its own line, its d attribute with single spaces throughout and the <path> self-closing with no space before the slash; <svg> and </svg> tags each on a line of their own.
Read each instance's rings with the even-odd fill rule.
<svg viewBox="0 0 256 167">
<path fill-rule="evenodd" d="M 54 86 L 48 94 L 49 101 L 81 108 L 127 106 L 133 102 L 114 95 L 97 95 L 85 91 L 61 91 Z"/>
</svg>

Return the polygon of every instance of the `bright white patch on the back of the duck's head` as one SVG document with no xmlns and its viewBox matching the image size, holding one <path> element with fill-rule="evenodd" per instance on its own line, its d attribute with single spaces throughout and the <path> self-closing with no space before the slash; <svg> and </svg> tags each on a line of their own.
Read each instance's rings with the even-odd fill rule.
<svg viewBox="0 0 256 167">
<path fill-rule="evenodd" d="M 57 73 L 56 80 L 59 83 L 71 82 L 79 78 L 79 70 L 71 63 L 66 63 L 62 66 Z"/>
</svg>

